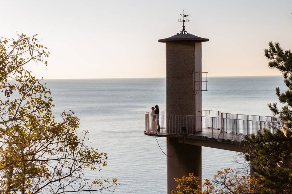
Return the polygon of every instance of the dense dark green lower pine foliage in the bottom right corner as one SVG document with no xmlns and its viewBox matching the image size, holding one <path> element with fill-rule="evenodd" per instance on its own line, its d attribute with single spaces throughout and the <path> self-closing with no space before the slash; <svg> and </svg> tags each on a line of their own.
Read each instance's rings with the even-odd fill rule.
<svg viewBox="0 0 292 194">
<path fill-rule="evenodd" d="M 253 176 L 261 185 L 260 193 L 291 193 L 292 138 L 285 137 L 280 130 L 272 134 L 264 129 L 246 139 L 252 149 L 245 154 L 245 159 L 253 163 Z"/>
</svg>

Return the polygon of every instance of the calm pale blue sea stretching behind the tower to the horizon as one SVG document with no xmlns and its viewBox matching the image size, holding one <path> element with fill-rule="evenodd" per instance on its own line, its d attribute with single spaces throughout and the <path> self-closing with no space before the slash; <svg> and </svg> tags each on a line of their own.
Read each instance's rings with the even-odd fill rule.
<svg viewBox="0 0 292 194">
<path fill-rule="evenodd" d="M 281 76 L 210 77 L 202 94 L 204 110 L 271 115 L 269 102 L 277 102 L 275 88 L 285 89 Z M 101 172 L 85 171 L 91 178 L 115 177 L 115 193 L 166 193 L 166 156 L 154 137 L 144 135 L 144 112 L 151 106 L 165 109 L 165 78 L 46 80 L 54 99 L 54 114 L 73 110 L 80 129 L 89 130 L 88 146 L 108 154 Z M 165 151 L 165 138 L 158 138 Z M 202 148 L 202 178 L 221 168 L 241 167 L 236 152 Z M 109 193 L 107 191 L 103 193 Z"/>
</svg>

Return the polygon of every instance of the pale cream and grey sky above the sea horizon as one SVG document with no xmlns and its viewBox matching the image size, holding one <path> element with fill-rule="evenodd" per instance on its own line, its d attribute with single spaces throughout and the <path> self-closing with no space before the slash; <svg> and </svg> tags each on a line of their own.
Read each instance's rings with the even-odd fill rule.
<svg viewBox="0 0 292 194">
<path fill-rule="evenodd" d="M 202 43 L 208 76 L 280 75 L 267 67 L 269 41 L 292 49 L 292 0 L 14 1 L 1 0 L 0 35 L 38 34 L 48 66 L 27 65 L 44 79 L 165 77 L 165 43 L 181 30 Z"/>
</svg>

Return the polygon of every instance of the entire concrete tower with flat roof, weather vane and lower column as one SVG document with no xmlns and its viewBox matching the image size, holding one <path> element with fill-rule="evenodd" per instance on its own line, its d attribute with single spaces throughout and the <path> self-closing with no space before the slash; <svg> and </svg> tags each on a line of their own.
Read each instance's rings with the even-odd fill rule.
<svg viewBox="0 0 292 194">
<path fill-rule="evenodd" d="M 189 34 L 184 23 L 177 35 L 158 40 L 166 43 L 166 115 L 202 116 L 202 42 L 209 41 Z M 168 118 L 176 123 L 176 118 Z M 201 122 L 193 121 L 194 132 L 200 132 Z M 171 130 L 167 124 L 167 130 Z M 182 128 L 184 125 L 182 124 Z M 184 129 L 182 129 L 184 130 Z M 185 129 L 186 130 L 186 129 Z M 176 188 L 175 177 L 194 173 L 201 177 L 201 146 L 179 143 L 176 137 L 167 137 L 167 193 Z"/>
</svg>

